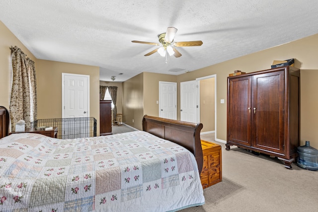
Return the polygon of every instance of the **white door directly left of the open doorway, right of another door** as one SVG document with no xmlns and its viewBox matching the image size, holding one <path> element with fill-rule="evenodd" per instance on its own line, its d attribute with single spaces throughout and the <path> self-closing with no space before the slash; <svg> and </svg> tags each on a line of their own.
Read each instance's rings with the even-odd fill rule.
<svg viewBox="0 0 318 212">
<path fill-rule="evenodd" d="M 197 123 L 197 81 L 180 82 L 180 120 Z"/>
</svg>

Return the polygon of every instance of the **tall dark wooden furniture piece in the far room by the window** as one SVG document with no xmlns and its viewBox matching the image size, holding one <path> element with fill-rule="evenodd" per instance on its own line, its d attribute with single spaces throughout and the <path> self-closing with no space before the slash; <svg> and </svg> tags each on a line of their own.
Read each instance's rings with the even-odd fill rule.
<svg viewBox="0 0 318 212">
<path fill-rule="evenodd" d="M 99 135 L 111 135 L 111 100 L 99 101 Z"/>
</svg>

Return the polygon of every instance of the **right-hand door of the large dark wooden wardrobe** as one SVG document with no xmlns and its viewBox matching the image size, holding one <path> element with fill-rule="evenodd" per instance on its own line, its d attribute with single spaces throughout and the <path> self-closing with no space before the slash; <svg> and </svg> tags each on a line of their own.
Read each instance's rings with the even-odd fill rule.
<svg viewBox="0 0 318 212">
<path fill-rule="evenodd" d="M 284 71 L 252 77 L 252 145 L 283 153 Z"/>
</svg>

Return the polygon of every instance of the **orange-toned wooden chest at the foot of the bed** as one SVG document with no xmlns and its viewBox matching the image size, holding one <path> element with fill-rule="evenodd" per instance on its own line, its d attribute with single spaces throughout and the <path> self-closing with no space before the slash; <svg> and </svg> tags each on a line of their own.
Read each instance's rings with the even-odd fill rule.
<svg viewBox="0 0 318 212">
<path fill-rule="evenodd" d="M 222 149 L 221 145 L 201 140 L 203 150 L 203 168 L 201 184 L 207 188 L 222 181 Z"/>
</svg>

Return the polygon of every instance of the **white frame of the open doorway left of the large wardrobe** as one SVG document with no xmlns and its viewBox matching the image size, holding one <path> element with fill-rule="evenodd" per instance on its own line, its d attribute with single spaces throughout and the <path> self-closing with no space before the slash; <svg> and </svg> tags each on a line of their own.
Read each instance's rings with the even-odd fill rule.
<svg viewBox="0 0 318 212">
<path fill-rule="evenodd" d="M 196 78 L 195 80 L 197 80 L 197 84 L 198 84 L 198 95 L 197 95 L 197 104 L 198 104 L 198 110 L 197 110 L 197 120 L 198 122 L 200 122 L 200 80 L 203 79 L 208 79 L 208 78 L 214 78 L 214 141 L 220 141 L 220 142 L 224 142 L 222 140 L 218 140 L 217 139 L 217 74 L 213 74 L 213 75 L 208 75 L 208 76 L 203 76 L 203 77 L 199 77 Z M 212 132 L 204 132 L 201 133 L 202 135 L 204 134 L 209 134 L 209 133 L 213 133 Z"/>
</svg>

